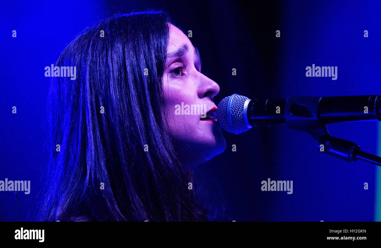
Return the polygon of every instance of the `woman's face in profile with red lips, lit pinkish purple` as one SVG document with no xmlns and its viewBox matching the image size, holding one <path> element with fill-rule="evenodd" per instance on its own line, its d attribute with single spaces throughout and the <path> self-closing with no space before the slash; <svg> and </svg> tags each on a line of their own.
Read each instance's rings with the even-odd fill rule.
<svg viewBox="0 0 381 248">
<path fill-rule="evenodd" d="M 163 85 L 168 124 L 181 161 L 199 164 L 222 153 L 226 142 L 215 119 L 217 107 L 213 102 L 219 86 L 201 73 L 199 52 L 172 24 Z"/>
</svg>

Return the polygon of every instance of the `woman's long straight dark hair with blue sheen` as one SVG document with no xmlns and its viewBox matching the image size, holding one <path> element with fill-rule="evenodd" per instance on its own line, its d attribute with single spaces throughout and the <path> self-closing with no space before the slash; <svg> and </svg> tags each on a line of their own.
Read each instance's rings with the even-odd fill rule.
<svg viewBox="0 0 381 248">
<path fill-rule="evenodd" d="M 77 78 L 51 81 L 40 221 L 207 220 L 165 125 L 169 22 L 162 11 L 115 15 L 59 56 Z"/>
</svg>

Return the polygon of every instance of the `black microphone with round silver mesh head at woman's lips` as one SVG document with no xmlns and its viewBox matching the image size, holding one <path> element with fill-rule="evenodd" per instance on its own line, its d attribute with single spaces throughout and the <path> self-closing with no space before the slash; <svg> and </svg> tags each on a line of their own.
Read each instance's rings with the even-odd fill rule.
<svg viewBox="0 0 381 248">
<path fill-rule="evenodd" d="M 249 99 L 233 94 L 218 104 L 217 120 L 227 132 L 287 124 L 296 130 L 319 129 L 329 123 L 381 121 L 379 95 Z"/>
</svg>

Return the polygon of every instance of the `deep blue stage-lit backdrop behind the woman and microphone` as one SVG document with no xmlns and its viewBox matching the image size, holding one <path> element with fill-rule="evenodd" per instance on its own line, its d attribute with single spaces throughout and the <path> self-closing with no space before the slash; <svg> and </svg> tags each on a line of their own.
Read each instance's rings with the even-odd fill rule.
<svg viewBox="0 0 381 248">
<path fill-rule="evenodd" d="M 40 200 L 46 96 L 45 66 L 78 32 L 115 13 L 167 11 L 200 50 L 221 90 L 249 98 L 381 94 L 379 1 L 41 1 L 0 3 L 0 180 L 30 180 L 18 193 L 21 221 Z M 12 30 L 17 37 L 12 37 Z M 280 30 L 280 38 L 275 31 Z M 364 30 L 369 37 L 365 38 Z M 307 78 L 307 66 L 337 66 L 338 79 Z M 232 68 L 237 75 L 232 76 Z M 17 114 L 12 114 L 12 107 Z M 377 123 L 331 124 L 331 135 L 376 154 Z M 224 132 L 226 151 L 199 166 L 213 178 L 236 221 L 373 221 L 376 165 L 347 163 L 315 149 L 286 126 Z M 232 144 L 237 151 L 232 152 Z M 293 180 L 293 194 L 263 192 L 261 181 Z M 364 183 L 369 189 L 363 189 Z M 194 185 L 197 187 L 197 184 Z M 17 221 L 13 192 L 0 192 L 0 221 Z"/>
</svg>

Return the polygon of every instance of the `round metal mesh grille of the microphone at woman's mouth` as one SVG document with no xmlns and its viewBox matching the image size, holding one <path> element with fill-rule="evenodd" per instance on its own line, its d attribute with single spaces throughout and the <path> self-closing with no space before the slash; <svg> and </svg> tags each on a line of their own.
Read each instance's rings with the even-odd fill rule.
<svg viewBox="0 0 381 248">
<path fill-rule="evenodd" d="M 231 114 L 231 124 L 229 123 L 228 117 L 228 105 L 230 98 L 233 97 L 230 104 L 230 114 Z M 249 128 L 245 124 L 245 120 L 243 119 L 243 105 L 245 104 L 247 97 L 243 95 L 231 95 L 229 97 L 225 97 L 218 104 L 217 108 L 217 120 L 219 125 L 229 133 L 240 134 L 242 132 L 246 132 Z"/>
</svg>

